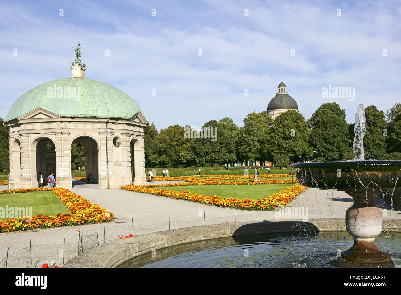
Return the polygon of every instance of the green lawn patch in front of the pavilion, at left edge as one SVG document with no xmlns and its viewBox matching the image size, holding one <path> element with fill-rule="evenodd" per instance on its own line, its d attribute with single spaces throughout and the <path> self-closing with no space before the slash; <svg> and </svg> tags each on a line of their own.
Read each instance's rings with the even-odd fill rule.
<svg viewBox="0 0 401 295">
<path fill-rule="evenodd" d="M 8 193 L 0 195 L 0 208 L 32 208 L 32 216 L 56 215 L 70 212 L 52 191 L 30 191 L 26 193 Z M 2 218 L 1 220 L 6 220 Z"/>
</svg>

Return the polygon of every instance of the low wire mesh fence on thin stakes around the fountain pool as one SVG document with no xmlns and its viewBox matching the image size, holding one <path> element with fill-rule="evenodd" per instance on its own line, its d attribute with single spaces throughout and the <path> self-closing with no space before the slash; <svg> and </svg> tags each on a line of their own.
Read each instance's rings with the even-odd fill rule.
<svg viewBox="0 0 401 295">
<path fill-rule="evenodd" d="M 317 207 L 317 206 L 315 206 Z M 315 212 L 314 212 L 315 210 Z M 233 212 L 234 213 L 234 212 Z M 345 213 L 345 212 L 344 212 Z M 316 218 L 339 218 L 344 219 L 345 214 L 331 215 L 331 212 L 322 212 L 319 208 L 309 207 L 287 207 L 284 210 L 275 211 L 258 211 L 249 212 L 243 210 L 235 210 L 235 214 L 226 216 L 208 216 L 208 212 L 200 211 L 197 218 L 192 220 L 182 220 L 180 216 L 172 216 L 171 212 L 165 212 L 165 222 L 145 223 L 138 225 L 134 219 L 130 221 L 113 222 L 99 224 L 95 229 L 81 226 L 76 231 L 76 238 L 71 237 L 71 232 L 66 234 L 62 243 L 59 244 L 41 244 L 32 245 L 31 240 L 26 241 L 26 247 L 18 250 L 6 248 L 2 246 L 0 250 L 0 267 L 42 267 L 43 264 L 61 265 L 79 255 L 86 250 L 100 246 L 104 243 L 113 242 L 120 238 L 130 235 L 138 236 L 152 232 L 160 232 L 164 230 L 172 230 L 177 228 L 186 228 L 191 226 L 204 226 L 210 224 L 223 224 L 233 222 L 270 222 L 272 220 L 303 220 L 308 221 Z M 340 217 L 343 216 L 343 217 Z M 401 212 L 395 210 L 383 210 L 383 221 L 385 220 L 401 220 Z M 113 226 L 118 224 L 118 226 Z M 89 225 L 90 226 L 90 225 Z M 66 239 L 76 242 L 66 242 Z M 4 257 L 4 258 L 3 258 Z"/>
</svg>

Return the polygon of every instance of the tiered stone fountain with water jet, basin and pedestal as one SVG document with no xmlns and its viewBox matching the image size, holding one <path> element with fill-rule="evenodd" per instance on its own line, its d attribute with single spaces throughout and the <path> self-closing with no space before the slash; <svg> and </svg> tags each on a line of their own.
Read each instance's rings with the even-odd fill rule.
<svg viewBox="0 0 401 295">
<path fill-rule="evenodd" d="M 355 116 L 353 161 L 295 163 L 297 180 L 302 185 L 344 191 L 354 199 L 346 211 L 346 229 L 354 245 L 338 257 L 339 267 L 394 267 L 390 256 L 375 246 L 375 238 L 383 229 L 383 214 L 373 205 L 379 195 L 393 196 L 401 161 L 365 160 L 363 136 L 366 131 L 365 109 L 357 108 Z"/>
</svg>

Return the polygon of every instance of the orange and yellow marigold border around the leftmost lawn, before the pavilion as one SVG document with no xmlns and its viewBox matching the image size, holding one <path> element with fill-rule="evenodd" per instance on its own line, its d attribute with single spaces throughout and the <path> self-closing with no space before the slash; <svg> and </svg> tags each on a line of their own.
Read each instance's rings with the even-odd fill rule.
<svg viewBox="0 0 401 295">
<path fill-rule="evenodd" d="M 113 213 L 100 207 L 97 204 L 89 202 L 80 195 L 64 189 L 46 187 L 34 189 L 13 189 L 0 191 L 0 194 L 6 193 L 25 193 L 28 191 L 53 191 L 60 201 L 71 211 L 71 213 L 57 214 L 56 216 L 38 215 L 32 216 L 28 221 L 26 218 L 0 220 L 0 232 L 16 232 L 32 228 L 55 228 L 60 226 L 75 226 L 86 223 L 101 223 L 111 221 Z"/>
</svg>

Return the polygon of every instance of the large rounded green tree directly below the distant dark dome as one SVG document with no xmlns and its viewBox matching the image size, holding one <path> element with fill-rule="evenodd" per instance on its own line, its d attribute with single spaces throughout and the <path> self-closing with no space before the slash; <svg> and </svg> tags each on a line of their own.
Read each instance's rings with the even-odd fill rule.
<svg viewBox="0 0 401 295">
<path fill-rule="evenodd" d="M 288 110 L 274 120 L 273 130 L 267 140 L 268 159 L 276 155 L 287 155 L 292 162 L 310 159 L 313 156 L 309 144 L 310 130 L 304 116 L 296 110 Z"/>
</svg>

